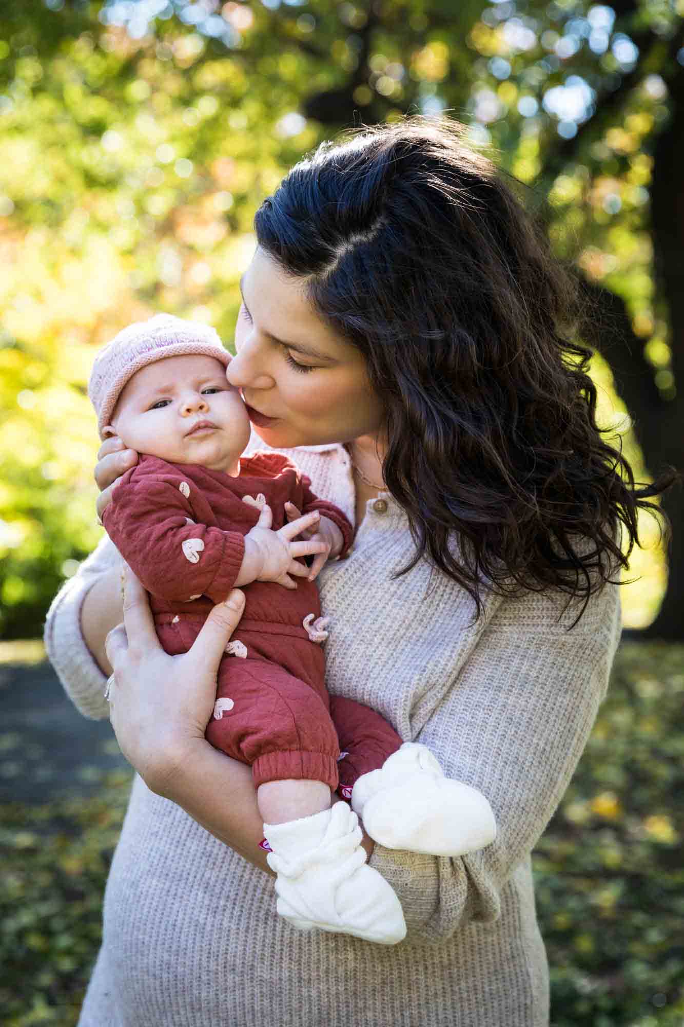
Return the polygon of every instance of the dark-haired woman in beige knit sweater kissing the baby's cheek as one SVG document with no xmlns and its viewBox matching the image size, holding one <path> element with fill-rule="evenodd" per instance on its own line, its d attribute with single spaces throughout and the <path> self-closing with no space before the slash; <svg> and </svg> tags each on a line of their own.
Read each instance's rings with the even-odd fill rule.
<svg viewBox="0 0 684 1027">
<path fill-rule="evenodd" d="M 631 551 L 637 508 L 674 476 L 636 491 L 602 441 L 572 291 L 459 126 L 321 147 L 256 230 L 228 378 L 253 448 L 296 448 L 357 526 L 319 576 L 328 686 L 479 789 L 498 834 L 460 859 L 367 841 L 409 926 L 391 949 L 274 916 L 250 768 L 203 737 L 240 596 L 169 657 L 129 580 L 105 645 L 121 619 L 105 541 L 46 630 L 86 716 L 107 716 L 115 667 L 112 723 L 139 772 L 81 1027 L 542 1027 L 530 851 L 608 683 L 620 523 Z M 136 459 L 103 446 L 101 509 Z"/>
</svg>

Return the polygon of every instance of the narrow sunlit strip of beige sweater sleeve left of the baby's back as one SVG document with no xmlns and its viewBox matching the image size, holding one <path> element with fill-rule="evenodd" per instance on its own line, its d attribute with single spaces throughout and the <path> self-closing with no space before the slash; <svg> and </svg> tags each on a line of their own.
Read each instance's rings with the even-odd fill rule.
<svg viewBox="0 0 684 1027">
<path fill-rule="evenodd" d="M 47 658 L 74 706 L 91 720 L 106 720 L 106 676 L 100 670 L 81 634 L 81 608 L 92 585 L 119 561 L 115 546 L 105 537 L 84 560 L 73 578 L 62 585 L 45 619 Z"/>
</svg>

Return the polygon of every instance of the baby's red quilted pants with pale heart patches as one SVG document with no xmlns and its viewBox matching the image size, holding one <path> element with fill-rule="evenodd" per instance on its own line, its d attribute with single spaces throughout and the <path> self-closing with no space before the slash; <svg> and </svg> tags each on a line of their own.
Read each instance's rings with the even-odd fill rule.
<svg viewBox="0 0 684 1027">
<path fill-rule="evenodd" d="M 203 622 L 164 618 L 156 625 L 159 641 L 170 655 L 187 652 Z M 248 623 L 235 633 L 246 657 L 226 655 L 219 665 L 217 698 L 227 701 L 220 719 L 210 721 L 207 740 L 249 763 L 257 787 L 320 781 L 333 791 L 339 785 L 348 798 L 356 778 L 381 767 L 402 738 L 370 707 L 329 695 L 322 650 L 298 629 Z"/>
</svg>

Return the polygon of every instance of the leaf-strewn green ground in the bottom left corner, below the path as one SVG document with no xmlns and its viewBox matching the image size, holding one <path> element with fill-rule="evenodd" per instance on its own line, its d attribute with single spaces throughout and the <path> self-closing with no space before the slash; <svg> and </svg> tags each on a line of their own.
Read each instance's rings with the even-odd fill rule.
<svg viewBox="0 0 684 1027">
<path fill-rule="evenodd" d="M 102 899 L 130 791 L 114 771 L 97 798 L 0 813 L 0 1006 L 5 1027 L 71 1027 L 102 937 Z"/>
</svg>

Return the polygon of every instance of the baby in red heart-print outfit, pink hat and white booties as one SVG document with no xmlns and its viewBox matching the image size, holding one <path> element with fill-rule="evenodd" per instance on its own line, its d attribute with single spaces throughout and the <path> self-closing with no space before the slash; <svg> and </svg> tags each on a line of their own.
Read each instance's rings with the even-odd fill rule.
<svg viewBox="0 0 684 1027">
<path fill-rule="evenodd" d="M 402 745 L 375 711 L 329 696 L 314 578 L 352 528 L 286 457 L 242 457 L 251 425 L 229 360 L 213 329 L 165 314 L 101 350 L 88 388 L 101 438 L 141 454 L 103 521 L 149 591 L 170 654 L 187 652 L 214 604 L 244 587 L 206 737 L 252 766 L 278 913 L 301 929 L 395 944 L 402 907 L 366 862 L 358 815 L 381 844 L 433 854 L 488 844 L 494 816 L 424 746 Z M 338 785 L 351 808 L 331 805 Z"/>
</svg>

